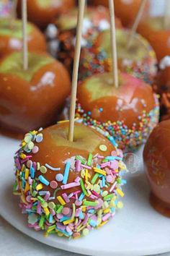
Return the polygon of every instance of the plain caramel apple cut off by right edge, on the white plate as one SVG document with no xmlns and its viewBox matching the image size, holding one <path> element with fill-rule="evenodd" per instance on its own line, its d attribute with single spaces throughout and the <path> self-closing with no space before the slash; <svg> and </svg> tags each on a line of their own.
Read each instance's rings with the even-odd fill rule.
<svg viewBox="0 0 170 256">
<path fill-rule="evenodd" d="M 153 129 L 144 148 L 143 159 L 151 186 L 153 208 L 170 217 L 170 120 Z"/>
</svg>

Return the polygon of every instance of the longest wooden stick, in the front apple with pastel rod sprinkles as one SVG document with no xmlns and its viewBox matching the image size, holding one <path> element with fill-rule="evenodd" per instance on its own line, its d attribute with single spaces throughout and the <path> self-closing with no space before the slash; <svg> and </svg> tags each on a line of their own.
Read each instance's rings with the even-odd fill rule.
<svg viewBox="0 0 170 256">
<path fill-rule="evenodd" d="M 84 9 L 85 9 L 85 0 L 79 0 L 78 22 L 77 22 L 77 28 L 76 28 L 76 46 L 75 46 L 75 55 L 73 59 L 73 76 L 72 76 L 72 85 L 71 85 L 71 108 L 70 108 L 69 130 L 68 130 L 68 140 L 70 142 L 73 142 L 74 117 L 75 117 L 75 109 L 76 109 L 76 91 L 77 91 L 77 82 L 78 82 L 80 52 L 81 52 L 81 28 L 84 20 Z"/>
</svg>

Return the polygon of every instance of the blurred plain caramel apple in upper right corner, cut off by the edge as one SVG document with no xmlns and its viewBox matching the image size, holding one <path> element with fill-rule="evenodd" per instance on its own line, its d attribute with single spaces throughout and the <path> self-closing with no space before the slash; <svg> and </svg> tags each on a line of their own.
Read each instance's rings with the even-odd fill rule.
<svg viewBox="0 0 170 256">
<path fill-rule="evenodd" d="M 170 29 L 164 28 L 164 17 L 148 17 L 142 20 L 138 25 L 138 33 L 151 43 L 158 61 L 170 55 Z"/>
</svg>

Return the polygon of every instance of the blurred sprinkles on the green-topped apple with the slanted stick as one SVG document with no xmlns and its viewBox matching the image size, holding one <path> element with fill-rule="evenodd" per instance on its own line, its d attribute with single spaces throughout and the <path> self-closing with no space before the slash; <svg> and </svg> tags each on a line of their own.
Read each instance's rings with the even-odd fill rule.
<svg viewBox="0 0 170 256">
<path fill-rule="evenodd" d="M 135 37 L 146 47 L 147 55 L 142 60 L 133 61 L 133 59 L 122 59 L 121 67 L 125 73 L 132 74 L 148 84 L 153 84 L 153 78 L 156 76 L 156 54 L 153 48 L 140 35 Z M 92 37 L 87 41 L 86 47 L 83 48 L 80 61 L 79 80 L 93 74 L 112 71 L 112 60 L 108 58 L 106 51 L 102 46 L 98 46 L 97 37 Z"/>
</svg>

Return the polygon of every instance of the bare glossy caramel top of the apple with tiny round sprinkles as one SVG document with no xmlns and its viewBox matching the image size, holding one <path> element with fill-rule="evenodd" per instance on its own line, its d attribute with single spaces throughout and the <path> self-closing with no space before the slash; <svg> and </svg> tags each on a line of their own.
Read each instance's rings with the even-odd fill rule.
<svg viewBox="0 0 170 256">
<path fill-rule="evenodd" d="M 128 127 L 133 123 L 138 126 L 138 116 L 155 105 L 151 86 L 124 73 L 120 73 L 119 88 L 113 85 L 111 73 L 89 77 L 79 85 L 77 97 L 84 111 L 91 111 L 93 119 L 123 120 Z"/>
</svg>

